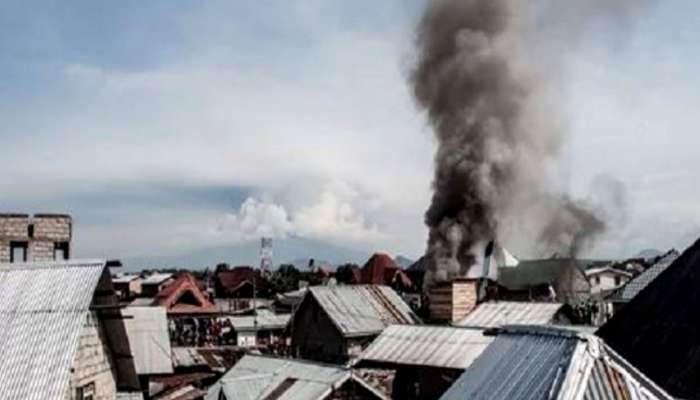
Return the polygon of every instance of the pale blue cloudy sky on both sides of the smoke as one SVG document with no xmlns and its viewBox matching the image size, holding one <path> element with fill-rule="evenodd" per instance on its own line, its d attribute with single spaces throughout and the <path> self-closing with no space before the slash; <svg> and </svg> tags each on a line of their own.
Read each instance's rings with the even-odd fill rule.
<svg viewBox="0 0 700 400">
<path fill-rule="evenodd" d="M 264 234 L 416 257 L 434 151 L 406 85 L 423 4 L 3 1 L 0 210 L 71 213 L 79 256 Z M 700 4 L 606 32 L 564 71 L 557 184 L 626 188 L 590 255 L 683 248 L 700 236 Z"/>
</svg>

